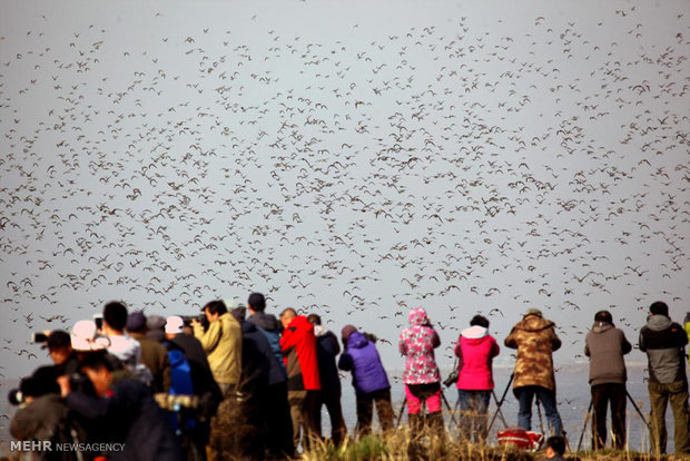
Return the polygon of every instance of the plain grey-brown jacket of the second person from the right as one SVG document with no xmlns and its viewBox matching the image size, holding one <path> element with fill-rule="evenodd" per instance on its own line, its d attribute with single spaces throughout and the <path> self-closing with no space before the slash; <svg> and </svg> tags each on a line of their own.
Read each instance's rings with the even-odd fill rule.
<svg viewBox="0 0 690 461">
<path fill-rule="evenodd" d="M 632 350 L 622 330 L 597 322 L 584 340 L 584 355 L 590 357 L 590 385 L 625 384 L 623 355 Z"/>
</svg>

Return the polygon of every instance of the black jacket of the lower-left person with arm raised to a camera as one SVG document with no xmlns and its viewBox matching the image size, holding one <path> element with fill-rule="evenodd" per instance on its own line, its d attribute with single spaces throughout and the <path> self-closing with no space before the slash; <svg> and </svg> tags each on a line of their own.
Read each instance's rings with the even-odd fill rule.
<svg viewBox="0 0 690 461">
<path fill-rule="evenodd" d="M 66 399 L 70 410 L 81 414 L 93 425 L 108 428 L 112 442 L 125 443 L 122 451 L 110 453 L 110 460 L 186 459 L 172 426 L 141 382 L 118 381 L 111 391 L 110 398 L 92 398 L 71 392 Z"/>
</svg>

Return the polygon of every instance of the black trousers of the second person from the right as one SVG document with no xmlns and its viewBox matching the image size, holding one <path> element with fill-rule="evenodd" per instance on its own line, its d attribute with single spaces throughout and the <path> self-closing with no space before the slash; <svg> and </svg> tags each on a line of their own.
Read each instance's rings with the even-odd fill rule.
<svg viewBox="0 0 690 461">
<path fill-rule="evenodd" d="M 592 386 L 592 448 L 607 445 L 607 409 L 611 406 L 611 432 L 614 449 L 625 448 L 625 384 L 605 383 Z"/>
</svg>

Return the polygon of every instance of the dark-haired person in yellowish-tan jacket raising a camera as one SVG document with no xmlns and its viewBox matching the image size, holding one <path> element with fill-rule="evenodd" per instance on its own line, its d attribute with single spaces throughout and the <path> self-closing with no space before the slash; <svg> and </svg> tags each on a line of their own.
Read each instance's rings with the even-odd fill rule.
<svg viewBox="0 0 690 461">
<path fill-rule="evenodd" d="M 201 311 L 208 320 L 208 330 L 204 331 L 201 323 L 195 318 L 191 322 L 194 336 L 201 343 L 214 379 L 226 395 L 239 384 L 241 330 L 223 301 L 211 301 Z"/>
</svg>

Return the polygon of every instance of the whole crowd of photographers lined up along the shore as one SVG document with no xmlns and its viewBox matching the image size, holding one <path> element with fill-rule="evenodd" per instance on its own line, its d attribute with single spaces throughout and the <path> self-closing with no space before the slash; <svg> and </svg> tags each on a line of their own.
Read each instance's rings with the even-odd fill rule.
<svg viewBox="0 0 690 461">
<path fill-rule="evenodd" d="M 286 459 L 325 440 L 323 406 L 331 419 L 331 443 L 347 440 L 341 371 L 351 373 L 356 398 L 352 435 L 372 432 L 374 408 L 383 432 L 395 426 L 391 383 L 375 335 L 345 325 L 338 341 L 319 315 L 300 315 L 289 307 L 276 318 L 266 312 L 259 293 L 241 305 L 213 301 L 201 312 L 198 317 L 164 318 L 111 302 L 102 310 L 102 324 L 83 320 L 69 333 L 46 332 L 43 346 L 53 364 L 21 381 L 12 435 L 82 443 L 80 458 L 61 453 L 59 459 Z M 411 310 L 408 322 L 398 350 L 405 357 L 410 431 L 413 437 L 444 437 L 442 376 L 434 355 L 441 341 L 424 308 Z M 684 355 L 690 322 L 687 325 L 688 332 L 670 320 L 664 303 L 657 302 L 639 335 L 639 349 L 649 359 L 655 453 L 666 452 L 668 402 L 676 452 L 690 453 Z M 492 361 L 501 353 L 489 327 L 486 317 L 475 315 L 454 347 L 460 437 L 473 443 L 487 440 Z M 552 435 L 548 459 L 560 459 L 566 439 L 555 396 L 552 353 L 561 346 L 555 325 L 530 308 L 503 344 L 516 350 L 511 382 L 519 402 L 518 425 L 531 430 L 536 400 Z M 609 406 L 611 444 L 625 447 L 623 356 L 631 350 L 611 313 L 598 312 L 585 337 L 595 450 L 607 444 Z M 102 447 L 118 450 L 103 452 Z"/>
</svg>

